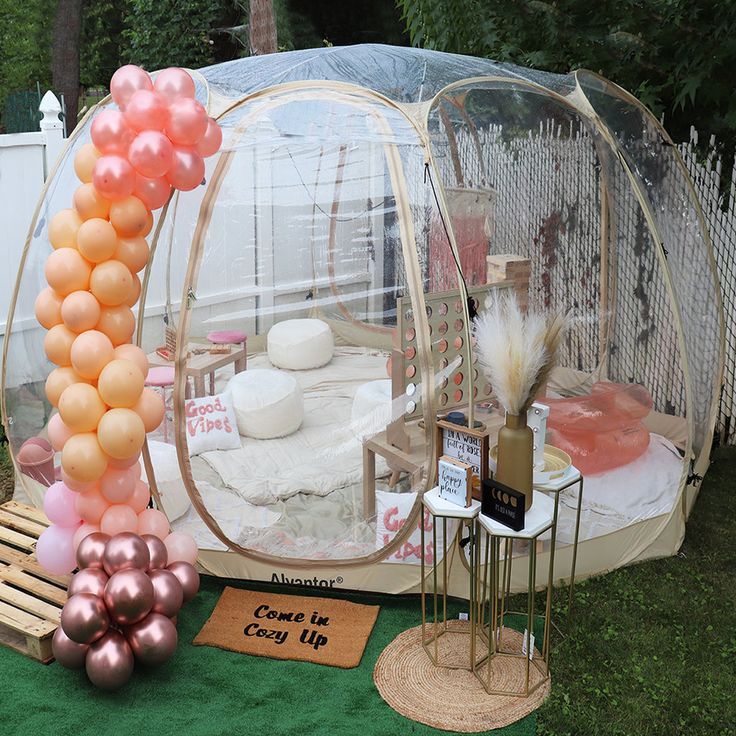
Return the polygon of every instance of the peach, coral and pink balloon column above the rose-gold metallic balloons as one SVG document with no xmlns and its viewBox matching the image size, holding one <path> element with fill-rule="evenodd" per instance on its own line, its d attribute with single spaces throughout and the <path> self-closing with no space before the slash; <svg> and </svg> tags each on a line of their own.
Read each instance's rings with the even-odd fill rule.
<svg viewBox="0 0 736 736">
<path fill-rule="evenodd" d="M 141 293 L 137 274 L 148 263 L 151 210 L 165 204 L 172 188 L 200 184 L 203 157 L 222 142 L 183 69 L 152 80 L 143 69 L 124 66 L 110 89 L 118 109 L 95 116 L 92 142 L 75 155 L 82 184 L 73 207 L 49 222 L 49 286 L 35 305 L 48 330 L 46 356 L 57 366 L 46 396 L 58 409 L 49 441 L 61 452 L 61 481 L 44 503 L 52 525 L 36 552 L 56 574 L 74 569 L 79 543 L 93 532 L 169 533 L 166 516 L 147 508 L 150 492 L 140 479 L 141 448 L 146 433 L 161 424 L 164 404 L 144 387 L 148 360 L 130 344 L 131 307 Z"/>
</svg>

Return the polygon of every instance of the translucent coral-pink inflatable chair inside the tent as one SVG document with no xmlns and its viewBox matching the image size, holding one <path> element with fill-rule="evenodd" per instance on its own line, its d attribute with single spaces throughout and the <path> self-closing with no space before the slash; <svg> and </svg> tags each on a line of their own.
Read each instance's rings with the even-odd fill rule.
<svg viewBox="0 0 736 736">
<path fill-rule="evenodd" d="M 641 420 L 652 410 L 652 397 L 643 386 L 596 383 L 589 396 L 544 403 L 550 444 L 570 455 L 583 475 L 627 465 L 649 447 Z"/>
</svg>

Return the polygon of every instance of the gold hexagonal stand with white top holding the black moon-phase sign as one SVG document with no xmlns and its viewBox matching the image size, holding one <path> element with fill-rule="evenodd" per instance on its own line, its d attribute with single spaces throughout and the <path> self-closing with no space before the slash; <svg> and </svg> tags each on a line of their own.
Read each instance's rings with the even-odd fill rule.
<svg viewBox="0 0 736 736">
<path fill-rule="evenodd" d="M 518 647 L 504 643 L 504 623 L 510 612 L 506 610 L 510 596 L 511 587 L 511 562 L 513 555 L 513 543 L 515 540 L 524 541 L 528 544 L 529 575 L 527 579 L 527 622 L 526 630 L 529 635 L 534 632 L 535 621 L 535 599 L 537 578 L 537 540 L 554 525 L 555 502 L 552 498 L 545 496 L 539 491 L 534 491 L 532 507 L 526 512 L 525 526 L 520 531 L 514 531 L 509 527 L 491 519 L 483 514 L 478 515 L 478 550 L 475 559 L 478 564 L 475 576 L 479 581 L 478 593 L 478 617 L 481 637 L 487 644 L 488 649 L 484 657 L 475 662 L 473 672 L 480 680 L 489 695 L 509 695 L 516 697 L 528 697 L 537 688 L 549 679 L 549 651 L 542 647 L 541 654 L 534 653 L 531 636 L 527 640 L 522 637 Z M 501 559 L 501 543 L 503 542 L 504 554 Z M 485 563 L 484 572 L 481 573 L 481 548 L 482 558 Z M 548 580 L 554 575 L 554 547 L 550 550 Z M 482 578 L 482 581 L 481 581 Z M 544 633 L 543 642 L 549 641 L 549 626 L 552 602 L 552 586 L 547 586 L 546 601 L 544 608 Z M 485 611 L 488 609 L 486 620 Z M 523 648 L 526 645 L 527 653 Z M 529 656 L 531 650 L 532 656 Z M 520 689 L 508 687 L 503 677 L 494 676 L 494 665 L 503 658 L 514 658 L 525 660 L 524 664 L 524 686 Z M 502 669 L 502 668 L 495 668 Z M 535 674 L 536 673 L 536 674 Z M 535 674 L 534 681 L 532 675 Z"/>
</svg>

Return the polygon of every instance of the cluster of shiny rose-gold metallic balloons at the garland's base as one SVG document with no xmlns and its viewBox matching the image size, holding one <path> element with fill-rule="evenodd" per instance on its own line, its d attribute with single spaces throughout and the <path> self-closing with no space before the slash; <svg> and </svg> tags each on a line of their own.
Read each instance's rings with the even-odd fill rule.
<svg viewBox="0 0 736 736">
<path fill-rule="evenodd" d="M 85 668 L 117 690 L 136 662 L 157 666 L 176 650 L 176 616 L 199 589 L 199 574 L 153 535 L 95 532 L 77 548 L 77 572 L 52 641 L 57 662 Z"/>
</svg>

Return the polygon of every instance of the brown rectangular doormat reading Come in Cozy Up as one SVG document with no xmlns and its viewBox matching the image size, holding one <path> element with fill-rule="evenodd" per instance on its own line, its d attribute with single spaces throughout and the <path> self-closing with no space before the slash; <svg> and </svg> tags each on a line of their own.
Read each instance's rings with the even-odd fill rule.
<svg viewBox="0 0 736 736">
<path fill-rule="evenodd" d="M 337 598 L 228 587 L 193 643 L 350 669 L 360 664 L 379 610 Z"/>
</svg>

